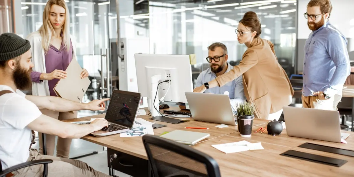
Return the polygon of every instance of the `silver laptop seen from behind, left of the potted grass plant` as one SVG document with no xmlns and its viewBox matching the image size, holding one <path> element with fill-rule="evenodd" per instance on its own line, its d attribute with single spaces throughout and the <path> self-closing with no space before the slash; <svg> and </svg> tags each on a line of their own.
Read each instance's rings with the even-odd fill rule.
<svg viewBox="0 0 354 177">
<path fill-rule="evenodd" d="M 194 120 L 236 125 L 228 95 L 184 92 Z"/>
</svg>

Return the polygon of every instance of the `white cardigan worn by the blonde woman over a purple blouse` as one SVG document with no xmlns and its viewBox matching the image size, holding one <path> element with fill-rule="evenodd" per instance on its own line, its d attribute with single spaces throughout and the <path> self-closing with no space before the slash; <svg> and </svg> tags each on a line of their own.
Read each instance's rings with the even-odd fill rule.
<svg viewBox="0 0 354 177">
<path fill-rule="evenodd" d="M 76 59 L 76 43 L 72 35 L 70 35 L 71 43 L 73 45 L 73 59 Z M 27 36 L 31 44 L 32 52 L 32 63 L 34 67 L 32 68 L 35 72 L 47 73 L 45 68 L 45 54 L 44 48 L 42 47 L 42 37 L 41 34 L 33 32 Z M 44 80 L 42 82 L 32 82 L 32 94 L 34 96 L 50 96 L 48 81 Z"/>
</svg>

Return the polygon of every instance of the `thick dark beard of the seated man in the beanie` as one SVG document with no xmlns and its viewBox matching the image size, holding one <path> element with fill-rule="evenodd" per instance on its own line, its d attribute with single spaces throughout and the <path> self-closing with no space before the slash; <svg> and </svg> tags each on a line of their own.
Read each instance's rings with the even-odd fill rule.
<svg viewBox="0 0 354 177">
<path fill-rule="evenodd" d="M 26 70 L 19 66 L 13 70 L 13 81 L 19 90 L 27 90 L 32 86 L 31 69 Z"/>
</svg>

